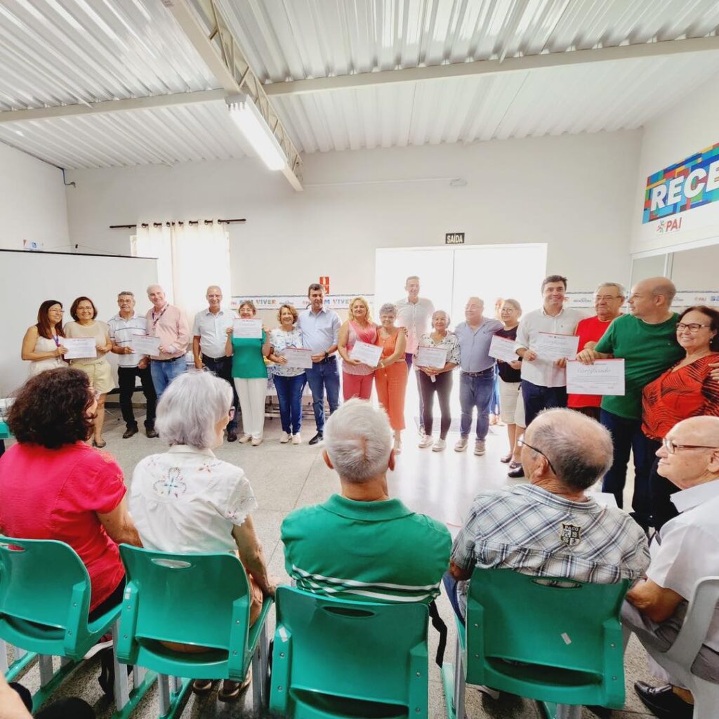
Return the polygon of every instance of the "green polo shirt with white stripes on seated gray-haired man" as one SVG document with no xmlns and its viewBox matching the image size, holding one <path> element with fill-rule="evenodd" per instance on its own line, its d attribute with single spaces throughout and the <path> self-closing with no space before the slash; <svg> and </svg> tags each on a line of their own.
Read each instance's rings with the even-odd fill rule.
<svg viewBox="0 0 719 719">
<path fill-rule="evenodd" d="M 290 513 L 282 541 L 298 589 L 357 602 L 431 602 L 452 551 L 444 524 L 400 500 L 356 502 L 340 495 Z"/>
</svg>

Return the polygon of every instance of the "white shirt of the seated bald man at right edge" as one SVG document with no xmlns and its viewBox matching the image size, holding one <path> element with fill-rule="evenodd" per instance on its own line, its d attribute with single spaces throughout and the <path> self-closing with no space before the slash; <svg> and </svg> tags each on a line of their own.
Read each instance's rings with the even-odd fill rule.
<svg viewBox="0 0 719 719">
<path fill-rule="evenodd" d="M 688 601 L 697 581 L 719 574 L 719 479 L 682 490 L 672 499 L 687 509 L 661 528 L 661 543 L 651 542 L 646 576 Z M 682 603 L 677 613 L 683 616 L 685 610 Z M 719 609 L 714 610 L 704 644 L 719 651 Z"/>
</svg>

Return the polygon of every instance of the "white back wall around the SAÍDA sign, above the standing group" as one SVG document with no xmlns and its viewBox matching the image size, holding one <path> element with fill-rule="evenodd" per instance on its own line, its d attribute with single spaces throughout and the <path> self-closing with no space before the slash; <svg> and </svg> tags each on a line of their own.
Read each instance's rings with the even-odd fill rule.
<svg viewBox="0 0 719 719">
<path fill-rule="evenodd" d="M 234 293 L 302 293 L 320 275 L 335 293 L 370 293 L 377 247 L 465 232 L 468 244 L 546 242 L 547 270 L 593 289 L 628 280 L 640 142 L 636 131 L 318 153 L 303 193 L 255 160 L 78 170 L 70 237 L 124 254 L 129 232 L 111 224 L 245 217 L 231 229 Z M 451 188 L 455 177 L 467 186 Z M 497 271 L 511 282 L 511 267 Z"/>
</svg>

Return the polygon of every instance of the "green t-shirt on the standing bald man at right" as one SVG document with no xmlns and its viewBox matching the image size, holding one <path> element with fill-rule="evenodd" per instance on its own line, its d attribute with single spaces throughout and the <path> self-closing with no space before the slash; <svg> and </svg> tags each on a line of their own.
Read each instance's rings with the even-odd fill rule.
<svg viewBox="0 0 719 719">
<path fill-rule="evenodd" d="M 610 324 L 595 350 L 624 359 L 625 394 L 605 395 L 603 410 L 626 419 L 641 419 L 642 390 L 684 357 L 677 343 L 677 321 L 676 312 L 661 324 L 646 324 L 626 314 Z"/>
</svg>

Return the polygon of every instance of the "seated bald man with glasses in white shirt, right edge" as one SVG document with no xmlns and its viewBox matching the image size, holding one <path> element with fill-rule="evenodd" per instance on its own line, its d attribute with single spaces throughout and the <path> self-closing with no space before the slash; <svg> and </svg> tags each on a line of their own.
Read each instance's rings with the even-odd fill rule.
<svg viewBox="0 0 719 719">
<path fill-rule="evenodd" d="M 682 490 L 672 495 L 679 516 L 665 523 L 652 539 L 646 581 L 628 592 L 622 621 L 642 644 L 667 651 L 682 628 L 697 581 L 719 574 L 719 417 L 679 422 L 656 454 L 659 475 Z M 663 669 L 656 669 L 669 683 L 651 687 L 636 682 L 639 698 L 658 717 L 690 719 L 691 692 Z M 692 673 L 719 682 L 719 608 L 714 610 Z"/>
</svg>

